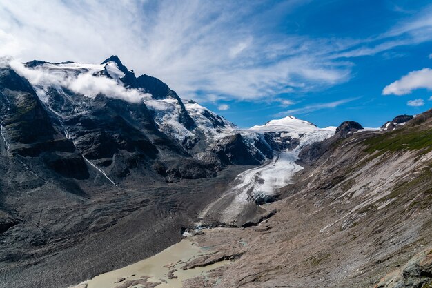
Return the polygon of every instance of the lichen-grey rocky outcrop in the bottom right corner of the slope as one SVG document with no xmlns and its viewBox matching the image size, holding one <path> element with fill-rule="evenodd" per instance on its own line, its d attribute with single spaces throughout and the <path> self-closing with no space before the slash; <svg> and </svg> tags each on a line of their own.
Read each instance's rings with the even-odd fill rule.
<svg viewBox="0 0 432 288">
<path fill-rule="evenodd" d="M 416 254 L 398 270 L 384 276 L 375 288 L 432 287 L 432 248 Z"/>
</svg>

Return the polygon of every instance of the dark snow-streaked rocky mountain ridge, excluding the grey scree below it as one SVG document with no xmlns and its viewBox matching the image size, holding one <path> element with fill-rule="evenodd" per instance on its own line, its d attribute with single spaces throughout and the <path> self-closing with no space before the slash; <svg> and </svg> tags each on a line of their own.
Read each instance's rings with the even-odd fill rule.
<svg viewBox="0 0 432 288">
<path fill-rule="evenodd" d="M 2 68 L 2 74 L 1 105 L 12 107 L 11 113 L 5 112 L 3 117 L 14 114 L 14 118 L 3 119 L 2 135 L 12 143 L 12 153 L 39 156 L 48 149 L 55 152 L 54 158 L 61 158 L 60 152 L 75 152 L 83 156 L 82 161 L 70 154 L 62 158 L 63 165 L 72 157 L 76 160 L 69 166 L 81 170 L 86 161 L 104 171 L 107 178 L 117 178 L 117 182 L 133 171 L 175 181 L 214 176 L 227 165 L 259 165 L 295 145 L 304 127 L 314 127 L 287 117 L 293 123 L 282 123 L 282 130 L 268 125 L 239 130 L 194 101 L 182 101 L 159 79 L 135 76 L 117 56 L 100 65 L 31 61 Z M 19 103 L 15 102 L 17 95 L 22 99 Z M 17 114 L 17 110 L 23 114 Z M 37 113 L 39 130 L 21 121 L 22 116 Z M 285 132 L 282 141 L 280 132 Z M 50 133 L 46 137 L 51 142 L 14 138 L 12 134 L 16 133 L 26 137 Z M 69 147 L 57 147 L 63 142 Z M 80 169 L 73 167 L 78 162 Z M 173 162 L 186 163 L 188 168 Z M 73 176 L 71 171 L 67 172 L 69 176 Z"/>
</svg>

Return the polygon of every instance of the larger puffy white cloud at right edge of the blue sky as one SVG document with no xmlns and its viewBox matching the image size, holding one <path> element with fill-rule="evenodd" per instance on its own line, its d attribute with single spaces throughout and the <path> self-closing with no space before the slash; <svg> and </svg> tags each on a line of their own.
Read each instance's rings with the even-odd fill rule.
<svg viewBox="0 0 432 288">
<path fill-rule="evenodd" d="M 382 90 L 382 94 L 404 95 L 419 88 L 432 90 L 432 70 L 430 68 L 409 72 L 405 76 L 402 76 L 401 79 L 387 85 Z"/>
</svg>

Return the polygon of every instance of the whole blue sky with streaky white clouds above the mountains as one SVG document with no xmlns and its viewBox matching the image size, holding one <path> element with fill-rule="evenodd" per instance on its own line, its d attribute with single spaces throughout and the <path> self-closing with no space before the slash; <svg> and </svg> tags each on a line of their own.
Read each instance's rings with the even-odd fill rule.
<svg viewBox="0 0 432 288">
<path fill-rule="evenodd" d="M 432 107 L 430 1 L 14 0 L 0 16 L 0 55 L 117 54 L 239 127 L 291 114 L 377 127 Z"/>
</svg>

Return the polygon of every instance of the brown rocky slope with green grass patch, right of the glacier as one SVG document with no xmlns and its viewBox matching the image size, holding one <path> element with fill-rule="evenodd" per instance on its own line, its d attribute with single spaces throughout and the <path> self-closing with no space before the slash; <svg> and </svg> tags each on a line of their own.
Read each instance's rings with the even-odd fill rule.
<svg viewBox="0 0 432 288">
<path fill-rule="evenodd" d="M 240 259 L 186 287 L 431 285 L 432 110 L 389 132 L 338 131 L 302 150 L 305 169 L 261 206 L 274 216 L 193 236 Z"/>
</svg>

